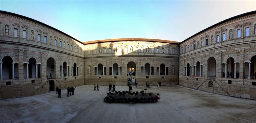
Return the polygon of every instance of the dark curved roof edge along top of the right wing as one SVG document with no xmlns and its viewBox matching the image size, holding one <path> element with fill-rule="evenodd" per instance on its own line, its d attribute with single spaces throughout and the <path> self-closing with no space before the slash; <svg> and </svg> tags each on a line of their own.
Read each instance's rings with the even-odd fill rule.
<svg viewBox="0 0 256 123">
<path fill-rule="evenodd" d="M 221 24 L 221 23 L 224 23 L 224 22 L 227 22 L 227 21 L 231 21 L 231 20 L 234 20 L 234 19 L 236 19 L 236 18 L 243 17 L 243 16 L 252 15 L 252 14 L 256 14 L 256 10 L 255 10 L 255 11 L 251 11 L 251 12 L 247 12 L 247 13 L 243 13 L 243 14 L 240 14 L 240 15 L 237 15 L 237 16 L 234 16 L 234 17 L 231 17 L 231 18 L 228 18 L 228 19 L 226 19 L 226 20 L 220 21 L 220 22 L 218 22 L 218 23 L 216 23 L 216 24 L 214 24 L 214 25 L 212 25 L 212 26 L 210 26 L 210 27 L 208 27 L 208 28 L 206 28 L 206 29 L 203 29 L 203 30 L 200 31 L 200 32 L 197 32 L 196 34 L 194 34 L 194 35 L 190 36 L 189 38 L 185 39 L 184 41 L 182 41 L 181 43 L 183 43 L 183 42 L 189 40 L 190 38 L 192 38 L 192 37 L 194 37 L 194 36 L 196 36 L 196 35 L 198 35 L 198 34 L 204 32 L 204 31 L 206 31 L 206 30 L 208 30 L 208 29 L 210 29 L 210 28 L 212 28 L 212 27 L 214 27 L 214 26 L 217 26 L 217 25 L 219 25 L 219 24 Z M 179 43 L 179 44 L 181 44 L 181 43 Z"/>
</svg>

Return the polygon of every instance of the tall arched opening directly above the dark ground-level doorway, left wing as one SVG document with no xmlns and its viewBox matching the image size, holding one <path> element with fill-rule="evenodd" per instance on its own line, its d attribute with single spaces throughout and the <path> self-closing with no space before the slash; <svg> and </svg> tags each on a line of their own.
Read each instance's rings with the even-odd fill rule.
<svg viewBox="0 0 256 123">
<path fill-rule="evenodd" d="M 47 79 L 55 78 L 55 60 L 54 58 L 49 58 L 47 60 Z"/>
</svg>

